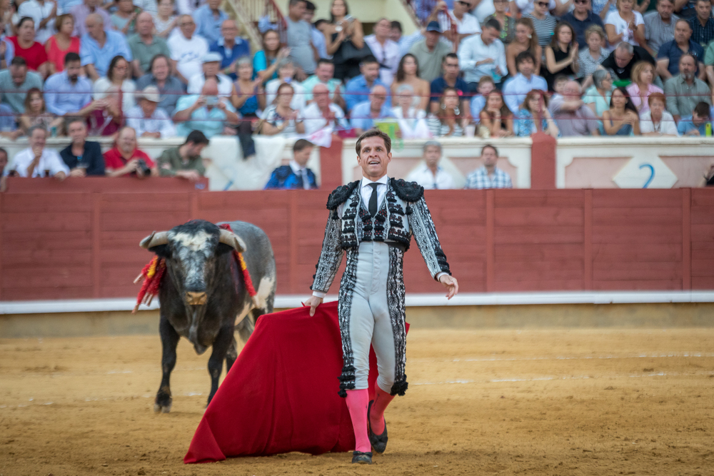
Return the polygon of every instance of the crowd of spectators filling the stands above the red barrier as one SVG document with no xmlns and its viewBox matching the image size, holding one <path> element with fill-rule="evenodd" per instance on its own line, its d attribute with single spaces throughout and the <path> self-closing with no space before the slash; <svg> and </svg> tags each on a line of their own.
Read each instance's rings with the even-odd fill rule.
<svg viewBox="0 0 714 476">
<path fill-rule="evenodd" d="M 265 17 L 257 51 L 221 0 L 4 2 L 0 135 L 31 144 L 14 173 L 56 178 L 193 178 L 178 166 L 202 173 L 196 148 L 216 135 L 236 136 L 244 157 L 256 133 L 326 128 L 710 136 L 712 3 L 652 1 L 412 0 L 423 27 L 403 35 L 398 21 L 363 25 L 347 0 L 321 12 L 287 0 L 284 43 Z M 61 155 L 44 149 L 51 136 L 71 141 Z M 100 161 L 90 136 L 116 146 Z M 174 136 L 186 144 L 156 164 L 136 148 Z"/>
</svg>

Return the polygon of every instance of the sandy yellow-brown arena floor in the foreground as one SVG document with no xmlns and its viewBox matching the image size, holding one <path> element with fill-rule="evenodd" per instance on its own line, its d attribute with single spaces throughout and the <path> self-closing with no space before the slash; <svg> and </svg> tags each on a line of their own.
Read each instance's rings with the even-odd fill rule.
<svg viewBox="0 0 714 476">
<path fill-rule="evenodd" d="M 714 329 L 413 330 L 388 449 L 183 465 L 207 355 L 155 415 L 156 336 L 0 340 L 1 475 L 713 475 Z"/>
</svg>

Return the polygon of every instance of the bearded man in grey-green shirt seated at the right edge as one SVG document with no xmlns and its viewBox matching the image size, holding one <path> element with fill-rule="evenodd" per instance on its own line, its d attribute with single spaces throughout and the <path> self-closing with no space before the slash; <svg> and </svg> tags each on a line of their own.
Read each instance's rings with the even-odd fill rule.
<svg viewBox="0 0 714 476">
<path fill-rule="evenodd" d="M 689 53 L 680 56 L 679 74 L 665 83 L 667 96 L 667 111 L 679 122 L 683 116 L 688 116 L 700 102 L 711 105 L 711 91 L 707 83 L 697 79 L 694 72 L 697 63 Z"/>
</svg>

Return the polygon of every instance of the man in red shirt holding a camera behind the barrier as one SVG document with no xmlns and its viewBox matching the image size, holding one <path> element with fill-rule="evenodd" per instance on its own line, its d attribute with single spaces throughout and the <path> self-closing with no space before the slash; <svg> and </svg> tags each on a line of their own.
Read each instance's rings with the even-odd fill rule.
<svg viewBox="0 0 714 476">
<path fill-rule="evenodd" d="M 108 177 L 146 178 L 156 176 L 154 161 L 136 147 L 136 131 L 123 127 L 116 138 L 116 145 L 104 153 L 104 172 Z"/>
</svg>

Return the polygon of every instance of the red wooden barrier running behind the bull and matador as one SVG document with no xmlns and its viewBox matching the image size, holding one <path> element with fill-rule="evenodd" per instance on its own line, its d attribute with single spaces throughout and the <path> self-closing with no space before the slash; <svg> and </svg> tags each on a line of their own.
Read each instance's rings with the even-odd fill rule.
<svg viewBox="0 0 714 476">
<path fill-rule="evenodd" d="M 139 240 L 190 218 L 260 226 L 275 250 L 278 293 L 307 295 L 327 195 L 206 193 L 178 179 L 11 179 L 0 194 L 0 300 L 134 296 L 150 258 Z M 426 197 L 463 292 L 714 289 L 712 190 Z M 414 244 L 405 276 L 409 292 L 441 292 Z"/>
</svg>

